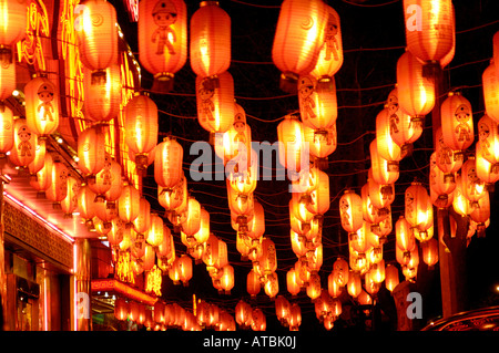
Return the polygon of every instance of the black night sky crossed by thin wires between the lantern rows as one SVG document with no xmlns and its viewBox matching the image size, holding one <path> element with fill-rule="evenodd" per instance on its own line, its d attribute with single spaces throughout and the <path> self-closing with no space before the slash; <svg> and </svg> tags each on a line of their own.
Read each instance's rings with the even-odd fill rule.
<svg viewBox="0 0 499 353">
<path fill-rule="evenodd" d="M 122 13 L 121 0 L 111 1 Z M 247 3 L 256 6 L 248 6 Z M 252 127 L 253 141 L 277 141 L 277 124 L 289 111 L 298 108 L 296 95 L 288 95 L 279 90 L 279 72 L 272 62 L 272 43 L 282 1 L 278 0 L 222 0 L 220 6 L 232 19 L 232 63 L 228 71 L 234 77 L 235 96 L 247 114 L 247 123 Z M 339 14 L 342 21 L 344 64 L 336 74 L 338 97 L 338 147 L 329 156 L 327 173 L 330 180 L 330 208 L 325 215 L 323 245 L 324 264 L 320 270 L 323 288 L 327 288 L 327 276 L 337 256 L 346 257 L 346 232 L 339 226 L 338 200 L 346 187 L 360 187 L 367 177 L 370 166 L 368 145 L 375 137 L 375 118 L 396 83 L 396 62 L 404 53 L 404 12 L 403 1 L 364 1 L 363 6 L 354 1 L 326 1 Z M 358 2 L 358 1 L 357 1 Z M 198 1 L 186 1 L 189 17 L 198 8 Z M 386 4 L 384 4 L 386 3 Z M 492 35 L 499 30 L 499 2 L 497 0 L 455 0 L 457 44 L 456 56 L 446 68 L 444 75 L 450 87 L 460 87 L 473 107 L 477 122 L 483 113 L 481 74 L 492 56 Z M 136 23 L 119 15 L 125 39 L 132 50 L 136 48 Z M 139 58 L 140 59 L 140 58 Z M 189 172 L 189 163 L 196 156 L 189 156 L 191 141 L 207 141 L 208 133 L 193 117 L 196 114 L 194 95 L 195 76 L 189 60 L 175 75 L 174 89 L 170 94 L 151 94 L 156 102 L 160 114 L 160 129 L 171 132 L 184 146 L 184 172 Z M 143 72 L 142 87 L 151 89 L 151 76 Z M 170 113 L 170 114 L 169 114 Z M 410 157 L 400 163 L 400 177 L 396 183 L 396 200 L 391 206 L 393 219 L 404 211 L 404 190 L 415 177 L 427 185 L 428 164 L 431 154 L 431 118 L 425 122 L 425 133 L 415 143 Z M 161 136 L 160 136 L 161 138 Z M 359 157 L 360 156 L 360 157 Z M 220 163 L 220 159 L 217 160 Z M 144 194 L 153 207 L 157 205 L 153 169 L 150 167 L 144 179 Z M 189 174 L 189 173 L 187 173 Z M 194 267 L 194 277 L 187 288 L 173 285 L 164 278 L 164 295 L 167 301 L 179 301 L 191 305 L 191 294 L 208 302 L 217 303 L 233 313 L 241 297 L 247 298 L 245 279 L 251 262 L 241 261 L 235 248 L 235 231 L 230 224 L 230 210 L 226 200 L 225 181 L 189 181 L 190 193 L 210 211 L 212 231 L 227 242 L 230 261 L 236 271 L 235 288 L 231 295 L 220 295 L 212 287 L 204 264 Z M 315 318 L 314 307 L 305 293 L 292 299 L 286 290 L 286 271 L 296 262 L 291 250 L 287 181 L 265 181 L 257 184 L 255 196 L 264 206 L 266 215 L 266 236 L 276 243 L 278 258 L 279 294 L 289 301 L 301 303 L 303 313 L 302 328 L 322 330 L 324 328 Z M 487 237 L 473 237 L 468 247 L 468 276 L 470 301 L 481 305 L 495 283 L 499 283 L 499 271 L 496 251 L 499 249 L 498 220 L 495 215 L 499 207 L 497 193 L 491 195 L 491 225 Z M 394 224 L 395 229 L 395 224 Z M 177 239 L 177 252 L 183 253 L 185 247 Z M 385 246 L 385 261 L 395 260 L 395 233 L 389 236 Z M 422 260 L 421 260 L 422 262 Z M 429 276 L 426 290 L 428 301 L 425 303 L 425 316 L 430 319 L 441 314 L 439 294 L 438 266 Z M 386 290 L 380 291 L 380 307 L 389 314 L 393 301 Z M 346 304 L 353 301 L 345 299 Z M 425 297 L 426 300 L 426 297 Z M 275 318 L 274 303 L 264 291 L 252 305 L 258 305 L 267 315 L 267 328 L 279 329 Z M 498 303 L 498 302 L 496 302 Z M 346 307 L 345 307 L 346 308 Z M 387 329 L 389 325 L 384 325 Z M 286 329 L 287 330 L 287 329 Z"/>
</svg>

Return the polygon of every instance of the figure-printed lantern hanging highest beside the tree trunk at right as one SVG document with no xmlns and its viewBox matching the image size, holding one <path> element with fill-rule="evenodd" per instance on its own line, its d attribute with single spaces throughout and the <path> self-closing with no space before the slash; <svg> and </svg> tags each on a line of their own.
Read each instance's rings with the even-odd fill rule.
<svg viewBox="0 0 499 353">
<path fill-rule="evenodd" d="M 459 93 L 449 92 L 441 103 L 441 133 L 444 143 L 462 153 L 475 139 L 471 103 Z"/>
</svg>

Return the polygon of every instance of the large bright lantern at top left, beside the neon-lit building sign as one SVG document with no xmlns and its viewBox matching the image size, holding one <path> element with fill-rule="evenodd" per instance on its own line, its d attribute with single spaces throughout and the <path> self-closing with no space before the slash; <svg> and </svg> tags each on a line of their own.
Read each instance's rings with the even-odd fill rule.
<svg viewBox="0 0 499 353">
<path fill-rule="evenodd" d="M 78 48 L 80 60 L 98 80 L 103 70 L 118 62 L 116 11 L 105 0 L 88 0 L 82 3 L 77 18 Z"/>
</svg>

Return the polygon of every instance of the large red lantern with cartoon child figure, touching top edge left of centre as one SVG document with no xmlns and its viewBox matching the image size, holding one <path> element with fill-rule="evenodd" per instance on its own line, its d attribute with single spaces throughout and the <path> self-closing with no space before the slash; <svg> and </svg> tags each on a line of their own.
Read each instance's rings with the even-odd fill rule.
<svg viewBox="0 0 499 353">
<path fill-rule="evenodd" d="M 185 2 L 141 1 L 139 13 L 139 60 L 155 80 L 171 80 L 187 60 Z"/>
</svg>

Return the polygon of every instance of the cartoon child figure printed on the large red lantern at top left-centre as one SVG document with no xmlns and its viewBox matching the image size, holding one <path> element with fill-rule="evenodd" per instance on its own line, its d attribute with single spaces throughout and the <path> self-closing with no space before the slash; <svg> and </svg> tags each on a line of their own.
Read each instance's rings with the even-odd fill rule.
<svg viewBox="0 0 499 353">
<path fill-rule="evenodd" d="M 155 43 L 157 39 L 156 54 L 162 55 L 164 46 L 169 49 L 171 55 L 175 54 L 172 42 L 176 41 L 175 31 L 170 27 L 176 22 L 176 8 L 170 0 L 159 1 L 152 12 L 154 23 L 157 29 L 152 34 L 152 42 Z"/>
</svg>

